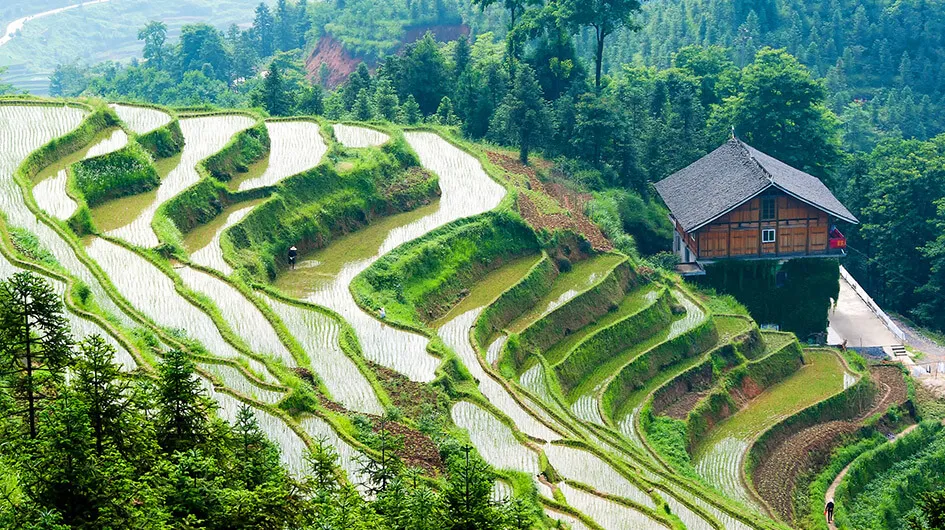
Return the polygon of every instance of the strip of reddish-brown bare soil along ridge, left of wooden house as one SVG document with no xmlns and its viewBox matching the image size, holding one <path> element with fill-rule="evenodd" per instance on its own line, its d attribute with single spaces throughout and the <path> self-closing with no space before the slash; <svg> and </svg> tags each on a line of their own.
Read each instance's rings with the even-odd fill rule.
<svg viewBox="0 0 945 530">
<path fill-rule="evenodd" d="M 519 213 L 532 228 L 548 231 L 571 230 L 587 239 L 594 250 L 599 252 L 613 250 L 613 244 L 604 236 L 600 228 L 584 214 L 584 207 L 591 198 L 589 194 L 576 193 L 560 184 L 545 184 L 538 178 L 534 167 L 525 166 L 515 158 L 495 151 L 489 151 L 487 154 L 493 164 L 508 173 L 525 176 L 528 179 L 529 189 L 551 197 L 568 212 L 544 214 L 525 194 L 520 194 L 517 205 Z M 542 167 L 549 165 L 544 161 L 536 161 L 535 163 Z"/>
</svg>

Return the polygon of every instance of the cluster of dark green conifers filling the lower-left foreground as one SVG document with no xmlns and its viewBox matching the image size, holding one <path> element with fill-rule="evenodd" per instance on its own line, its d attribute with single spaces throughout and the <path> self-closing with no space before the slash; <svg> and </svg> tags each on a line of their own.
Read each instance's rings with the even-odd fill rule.
<svg viewBox="0 0 945 530">
<path fill-rule="evenodd" d="M 435 425 L 447 476 L 407 466 L 382 424 L 363 484 L 339 480 L 324 440 L 292 477 L 248 405 L 233 425 L 214 414 L 188 354 L 129 378 L 104 339 L 72 339 L 58 292 L 33 273 L 0 282 L 0 339 L 3 528 L 524 530 L 537 516 L 493 501 L 488 465 Z"/>
</svg>

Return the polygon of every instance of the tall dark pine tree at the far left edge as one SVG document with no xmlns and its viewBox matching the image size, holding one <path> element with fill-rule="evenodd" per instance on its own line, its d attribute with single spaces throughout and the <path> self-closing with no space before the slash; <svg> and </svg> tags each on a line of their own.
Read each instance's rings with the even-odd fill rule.
<svg viewBox="0 0 945 530">
<path fill-rule="evenodd" d="M 59 295 L 45 279 L 17 272 L 0 282 L 0 381 L 36 438 L 42 403 L 55 395 L 72 362 L 72 337 Z"/>
</svg>

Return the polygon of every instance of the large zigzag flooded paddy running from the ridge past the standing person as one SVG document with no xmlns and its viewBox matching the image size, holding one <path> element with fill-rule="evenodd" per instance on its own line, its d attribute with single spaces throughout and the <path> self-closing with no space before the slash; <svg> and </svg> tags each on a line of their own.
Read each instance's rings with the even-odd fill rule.
<svg viewBox="0 0 945 530">
<path fill-rule="evenodd" d="M 492 210 L 505 189 L 489 178 L 479 161 L 439 136 L 426 132 L 406 134 L 423 166 L 439 176 L 438 203 L 397 219 L 388 219 L 386 230 L 377 226 L 337 241 L 316 256 L 303 259 L 295 271 L 277 283 L 285 292 L 328 307 L 355 329 L 364 356 L 415 381 L 432 381 L 439 359 L 426 351 L 425 337 L 385 325 L 355 303 L 348 285 L 378 258 L 450 221 Z M 344 242 L 367 241 L 346 246 Z M 380 241 L 379 245 L 375 243 Z M 332 247 L 335 247 L 334 250 Z M 369 254 L 367 256 L 367 254 Z M 322 260 L 318 258 L 322 257 Z M 328 257 L 329 259 L 324 259 Z"/>
</svg>

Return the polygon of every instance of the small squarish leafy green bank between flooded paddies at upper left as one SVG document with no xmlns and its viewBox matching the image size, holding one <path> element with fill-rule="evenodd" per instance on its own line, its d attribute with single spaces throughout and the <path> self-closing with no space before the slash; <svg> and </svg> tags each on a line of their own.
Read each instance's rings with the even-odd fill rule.
<svg viewBox="0 0 945 530">
<path fill-rule="evenodd" d="M 151 156 L 134 142 L 118 151 L 77 162 L 71 171 L 76 190 L 89 206 L 143 193 L 161 182 Z"/>
</svg>

